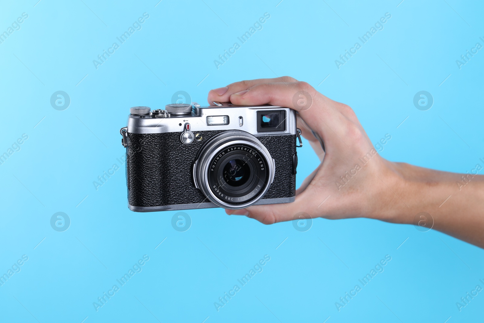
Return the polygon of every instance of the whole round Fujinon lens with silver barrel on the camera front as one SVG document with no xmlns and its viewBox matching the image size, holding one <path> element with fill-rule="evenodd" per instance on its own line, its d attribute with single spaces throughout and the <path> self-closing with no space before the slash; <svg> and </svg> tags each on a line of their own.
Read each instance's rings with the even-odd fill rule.
<svg viewBox="0 0 484 323">
<path fill-rule="evenodd" d="M 197 187 L 217 206 L 240 209 L 267 192 L 274 176 L 271 155 L 254 136 L 230 130 L 211 138 L 195 164 Z"/>
</svg>

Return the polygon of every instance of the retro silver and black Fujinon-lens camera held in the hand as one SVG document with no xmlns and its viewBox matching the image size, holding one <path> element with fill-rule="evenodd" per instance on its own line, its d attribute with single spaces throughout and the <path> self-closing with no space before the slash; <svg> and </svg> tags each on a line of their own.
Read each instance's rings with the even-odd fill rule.
<svg viewBox="0 0 484 323">
<path fill-rule="evenodd" d="M 130 112 L 121 128 L 130 210 L 294 201 L 296 147 L 302 146 L 294 110 L 214 102 Z"/>
</svg>

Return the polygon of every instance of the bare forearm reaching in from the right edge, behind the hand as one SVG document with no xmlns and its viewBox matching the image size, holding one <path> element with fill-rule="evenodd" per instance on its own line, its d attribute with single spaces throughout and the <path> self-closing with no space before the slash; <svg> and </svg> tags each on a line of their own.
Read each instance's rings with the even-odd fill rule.
<svg viewBox="0 0 484 323">
<path fill-rule="evenodd" d="M 394 185 L 381 219 L 418 224 L 415 216 L 433 217 L 432 229 L 484 248 L 484 176 L 456 174 L 402 163 L 390 163 Z M 396 197 L 395 195 L 398 195 Z M 401 200 L 400 200 L 401 199 Z M 431 223 L 427 223 L 427 225 Z"/>
</svg>

